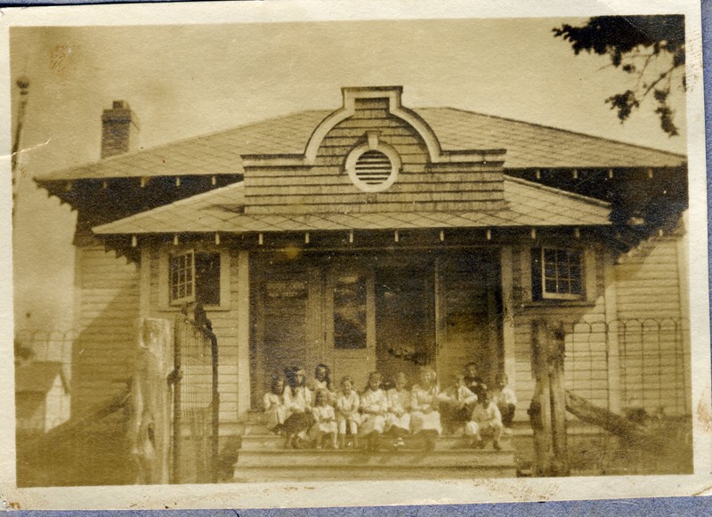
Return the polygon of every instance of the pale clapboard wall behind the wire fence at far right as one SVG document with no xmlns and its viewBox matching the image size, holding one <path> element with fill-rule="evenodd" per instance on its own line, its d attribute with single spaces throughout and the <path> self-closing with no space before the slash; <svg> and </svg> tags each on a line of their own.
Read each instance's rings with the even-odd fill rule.
<svg viewBox="0 0 712 517">
<path fill-rule="evenodd" d="M 689 411 L 682 238 L 650 238 L 614 267 L 623 408 L 651 414 Z"/>
</svg>

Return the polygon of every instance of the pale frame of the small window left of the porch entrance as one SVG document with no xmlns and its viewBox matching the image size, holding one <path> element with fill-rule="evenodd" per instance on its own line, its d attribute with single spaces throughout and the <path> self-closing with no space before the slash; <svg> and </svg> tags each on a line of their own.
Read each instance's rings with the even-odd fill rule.
<svg viewBox="0 0 712 517">
<path fill-rule="evenodd" d="M 192 253 L 192 267 L 195 269 L 195 254 L 208 253 L 220 255 L 220 303 L 206 304 L 206 311 L 230 311 L 231 309 L 231 255 L 227 250 L 217 246 L 166 246 L 159 250 L 158 254 L 158 311 L 180 311 L 185 303 L 195 303 L 195 284 L 193 284 L 193 294 L 191 299 L 182 298 L 171 300 L 171 258 L 182 254 Z M 193 271 L 193 282 L 195 282 L 195 271 Z M 154 298 L 155 299 L 155 298 Z"/>
</svg>

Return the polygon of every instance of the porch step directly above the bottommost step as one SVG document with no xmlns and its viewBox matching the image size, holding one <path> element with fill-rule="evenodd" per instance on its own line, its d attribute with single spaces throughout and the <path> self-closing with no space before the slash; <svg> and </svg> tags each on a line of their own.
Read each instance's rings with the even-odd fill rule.
<svg viewBox="0 0 712 517">
<path fill-rule="evenodd" d="M 236 470 L 244 468 L 494 468 L 513 467 L 514 452 L 491 449 L 366 452 L 361 450 L 282 449 L 272 451 L 240 450 Z"/>
</svg>

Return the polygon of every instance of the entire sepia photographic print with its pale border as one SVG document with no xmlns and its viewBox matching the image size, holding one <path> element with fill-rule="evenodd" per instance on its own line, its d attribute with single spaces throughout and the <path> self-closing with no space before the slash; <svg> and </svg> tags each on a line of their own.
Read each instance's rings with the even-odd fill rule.
<svg viewBox="0 0 712 517">
<path fill-rule="evenodd" d="M 197 21 L 9 28 L 18 489 L 700 473 L 683 11 Z"/>
</svg>

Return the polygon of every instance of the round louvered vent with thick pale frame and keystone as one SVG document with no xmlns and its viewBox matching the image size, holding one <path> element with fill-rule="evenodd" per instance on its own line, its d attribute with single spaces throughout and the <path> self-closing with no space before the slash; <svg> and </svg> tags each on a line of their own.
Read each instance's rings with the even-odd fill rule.
<svg viewBox="0 0 712 517">
<path fill-rule="evenodd" d="M 396 181 L 401 170 L 401 158 L 390 145 L 378 141 L 369 133 L 368 144 L 352 149 L 346 158 L 346 172 L 351 181 L 364 192 L 381 192 Z"/>
</svg>

